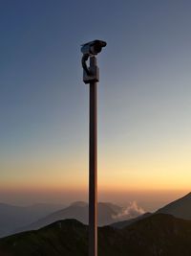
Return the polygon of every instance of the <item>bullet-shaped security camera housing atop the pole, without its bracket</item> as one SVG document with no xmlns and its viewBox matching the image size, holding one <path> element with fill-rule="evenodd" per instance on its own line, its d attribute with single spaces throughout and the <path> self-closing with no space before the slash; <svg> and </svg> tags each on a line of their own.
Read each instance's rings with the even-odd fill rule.
<svg viewBox="0 0 191 256">
<path fill-rule="evenodd" d="M 97 55 L 101 52 L 102 47 L 105 47 L 107 43 L 101 40 L 94 40 L 85 44 L 82 44 L 81 52 L 85 56 Z"/>
</svg>

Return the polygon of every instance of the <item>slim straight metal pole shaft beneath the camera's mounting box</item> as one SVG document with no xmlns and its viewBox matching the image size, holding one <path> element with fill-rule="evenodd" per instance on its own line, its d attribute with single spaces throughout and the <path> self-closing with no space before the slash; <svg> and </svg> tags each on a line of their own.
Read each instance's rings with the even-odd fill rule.
<svg viewBox="0 0 191 256">
<path fill-rule="evenodd" d="M 90 58 L 90 70 L 96 68 L 96 57 Z M 90 82 L 89 127 L 89 256 L 97 256 L 97 121 L 96 81 Z"/>
</svg>

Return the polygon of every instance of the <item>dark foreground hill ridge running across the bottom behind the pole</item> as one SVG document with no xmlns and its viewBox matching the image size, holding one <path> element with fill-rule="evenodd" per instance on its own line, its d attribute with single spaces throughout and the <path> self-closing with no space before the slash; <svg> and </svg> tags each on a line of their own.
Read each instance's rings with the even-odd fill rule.
<svg viewBox="0 0 191 256">
<path fill-rule="evenodd" d="M 88 256 L 88 226 L 57 221 L 0 240 L 1 256 Z M 99 256 L 190 256 L 191 221 L 157 214 L 123 229 L 98 229 Z"/>
</svg>

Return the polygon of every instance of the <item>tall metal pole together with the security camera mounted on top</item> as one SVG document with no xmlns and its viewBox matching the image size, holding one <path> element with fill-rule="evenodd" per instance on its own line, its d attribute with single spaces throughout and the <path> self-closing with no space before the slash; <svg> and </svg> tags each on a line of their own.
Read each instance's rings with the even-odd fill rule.
<svg viewBox="0 0 191 256">
<path fill-rule="evenodd" d="M 90 84 L 89 124 L 89 256 L 97 256 L 97 120 L 96 82 L 99 81 L 96 55 L 106 46 L 105 41 L 94 40 L 82 45 L 83 81 Z M 90 58 L 90 67 L 86 61 Z"/>
</svg>

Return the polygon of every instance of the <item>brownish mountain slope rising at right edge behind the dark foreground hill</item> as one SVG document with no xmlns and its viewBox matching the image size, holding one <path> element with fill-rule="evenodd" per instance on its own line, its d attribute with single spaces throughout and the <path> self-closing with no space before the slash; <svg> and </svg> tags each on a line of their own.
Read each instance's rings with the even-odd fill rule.
<svg viewBox="0 0 191 256">
<path fill-rule="evenodd" d="M 180 219 L 191 220 L 191 193 L 165 205 L 157 213 L 171 214 Z"/>
</svg>

